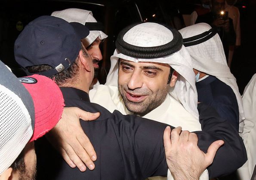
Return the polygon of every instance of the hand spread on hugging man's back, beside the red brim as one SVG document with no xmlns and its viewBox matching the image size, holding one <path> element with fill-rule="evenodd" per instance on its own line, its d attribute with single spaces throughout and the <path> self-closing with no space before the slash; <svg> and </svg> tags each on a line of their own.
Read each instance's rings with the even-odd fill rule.
<svg viewBox="0 0 256 180">
<path fill-rule="evenodd" d="M 99 113 L 89 113 L 77 107 L 65 107 L 62 119 L 46 135 L 71 168 L 77 166 L 80 171 L 85 171 L 86 166 L 90 170 L 95 168 L 93 161 L 97 158 L 96 152 L 84 134 L 79 119 L 91 121 L 98 117 Z"/>
</svg>

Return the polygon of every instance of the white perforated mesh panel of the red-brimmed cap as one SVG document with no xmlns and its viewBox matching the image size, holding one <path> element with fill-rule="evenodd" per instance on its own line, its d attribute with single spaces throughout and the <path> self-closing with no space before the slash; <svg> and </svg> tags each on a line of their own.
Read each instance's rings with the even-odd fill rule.
<svg viewBox="0 0 256 180">
<path fill-rule="evenodd" d="M 0 174 L 12 165 L 33 134 L 21 98 L 0 84 Z"/>
</svg>

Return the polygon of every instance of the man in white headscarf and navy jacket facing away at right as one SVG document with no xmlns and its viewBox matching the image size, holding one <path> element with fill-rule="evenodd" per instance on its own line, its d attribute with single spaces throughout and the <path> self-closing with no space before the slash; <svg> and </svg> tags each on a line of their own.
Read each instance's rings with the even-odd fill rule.
<svg viewBox="0 0 256 180">
<path fill-rule="evenodd" d="M 179 32 L 191 55 L 198 101 L 214 107 L 222 118 L 242 132 L 245 119 L 242 98 L 227 66 L 219 35 L 206 23 L 194 24 Z"/>
</svg>

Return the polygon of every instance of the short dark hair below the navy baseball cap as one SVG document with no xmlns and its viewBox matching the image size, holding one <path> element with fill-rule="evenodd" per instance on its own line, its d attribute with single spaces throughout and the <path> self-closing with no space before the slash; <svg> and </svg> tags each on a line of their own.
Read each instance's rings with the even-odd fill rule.
<svg viewBox="0 0 256 180">
<path fill-rule="evenodd" d="M 83 55 L 85 58 L 89 58 L 88 52 L 82 47 L 81 50 L 83 51 Z M 30 66 L 27 67 L 28 72 L 30 73 L 40 73 L 42 71 L 50 70 L 52 69 L 51 66 L 42 64 L 42 65 L 37 65 L 37 66 Z M 74 63 L 66 70 L 55 74 L 53 76 L 49 76 L 51 79 L 55 79 L 57 85 L 64 85 L 69 81 L 76 81 L 78 78 L 78 70 L 79 70 L 79 65 L 78 65 L 78 58 L 74 61 Z"/>
</svg>

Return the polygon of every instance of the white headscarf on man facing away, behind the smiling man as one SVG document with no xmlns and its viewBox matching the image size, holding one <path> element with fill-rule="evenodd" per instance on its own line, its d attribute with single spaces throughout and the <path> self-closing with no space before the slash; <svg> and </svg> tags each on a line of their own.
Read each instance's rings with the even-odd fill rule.
<svg viewBox="0 0 256 180">
<path fill-rule="evenodd" d="M 185 27 L 179 32 L 182 34 L 183 39 L 188 37 L 193 37 L 198 34 L 202 34 L 205 31 L 211 29 L 209 24 L 199 23 L 188 27 Z M 218 34 L 215 34 L 209 40 L 194 45 L 186 47 L 192 59 L 192 66 L 194 69 L 201 72 L 216 76 L 219 80 L 229 85 L 237 98 L 237 103 L 239 107 L 239 119 L 240 127 L 239 131 L 243 131 L 243 120 L 244 118 L 244 108 L 241 95 L 239 93 L 236 79 L 234 75 L 230 72 L 225 58 L 225 53 L 223 50 L 222 42 Z"/>
</svg>

